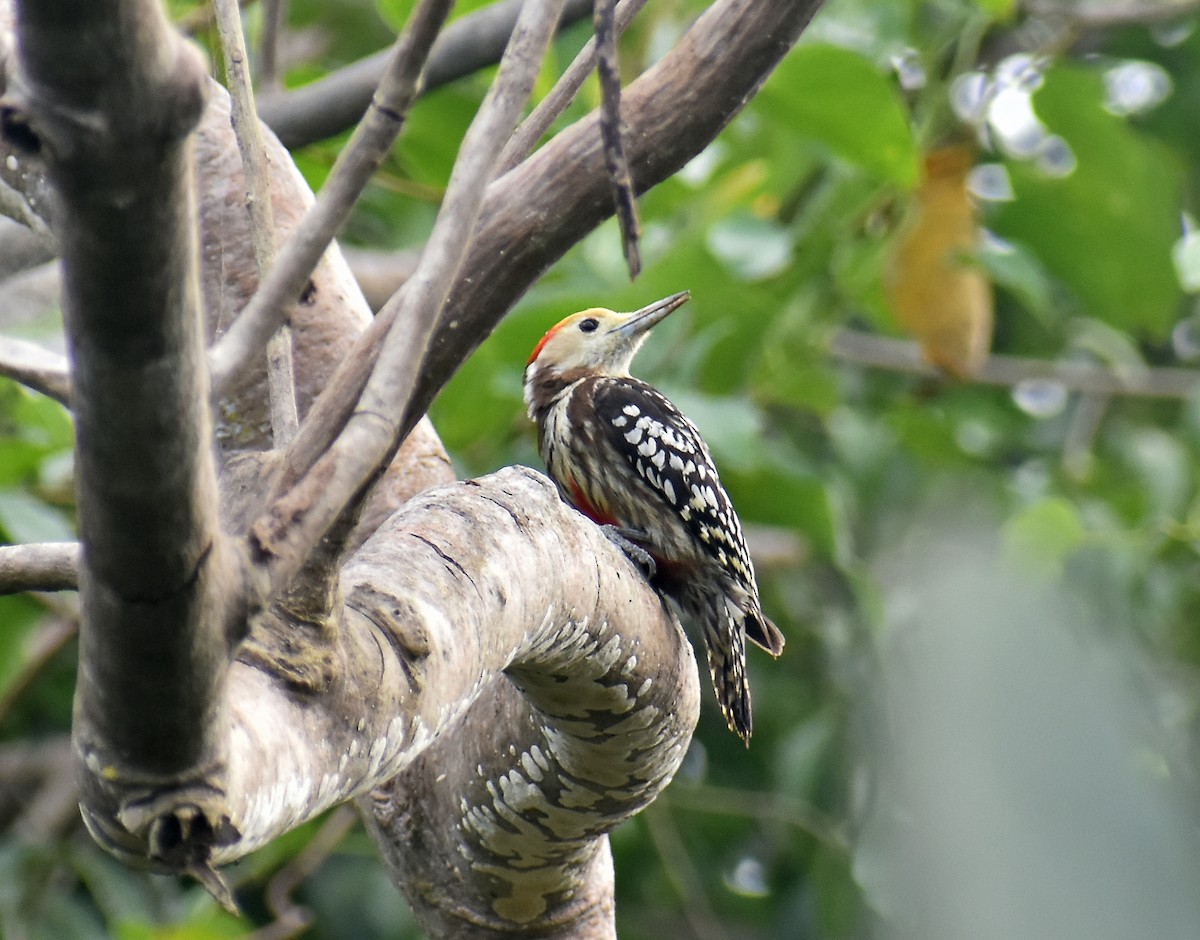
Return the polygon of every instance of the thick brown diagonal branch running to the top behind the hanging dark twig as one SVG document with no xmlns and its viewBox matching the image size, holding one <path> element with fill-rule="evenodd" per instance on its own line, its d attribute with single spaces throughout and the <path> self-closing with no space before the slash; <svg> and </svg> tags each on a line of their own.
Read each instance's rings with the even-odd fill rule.
<svg viewBox="0 0 1200 940">
<path fill-rule="evenodd" d="M 698 154 L 740 110 L 821 6 L 821 0 L 721 0 L 664 60 L 625 89 L 634 185 L 644 192 Z M 558 134 L 487 191 L 464 270 L 438 321 L 401 431 L 420 420 L 524 291 L 612 214 L 596 115 Z M 313 403 L 288 451 L 299 478 L 346 426 L 396 306 L 359 336 Z"/>
</svg>

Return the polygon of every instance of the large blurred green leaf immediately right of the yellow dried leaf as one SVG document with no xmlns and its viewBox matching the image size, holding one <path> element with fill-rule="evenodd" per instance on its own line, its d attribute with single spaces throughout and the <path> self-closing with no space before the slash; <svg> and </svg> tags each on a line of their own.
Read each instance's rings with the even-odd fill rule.
<svg viewBox="0 0 1200 940">
<path fill-rule="evenodd" d="M 1015 199 L 995 228 L 1024 241 L 1067 283 L 1086 312 L 1162 339 L 1181 300 L 1171 251 L 1180 232 L 1181 168 L 1158 143 L 1104 110 L 1104 79 L 1075 66 L 1051 70 L 1034 108 L 1070 146 L 1061 178 L 1009 161 Z"/>
</svg>

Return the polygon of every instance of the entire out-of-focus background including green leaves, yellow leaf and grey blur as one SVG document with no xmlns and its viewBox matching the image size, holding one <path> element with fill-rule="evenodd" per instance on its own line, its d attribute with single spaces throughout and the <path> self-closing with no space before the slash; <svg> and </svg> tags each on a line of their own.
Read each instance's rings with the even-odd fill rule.
<svg viewBox="0 0 1200 940">
<path fill-rule="evenodd" d="M 293 0 L 287 82 L 383 48 L 409 6 Z M 703 6 L 649 4 L 626 76 Z M 788 645 L 751 653 L 752 747 L 706 682 L 678 778 L 613 834 L 623 938 L 1200 935 L 1198 7 L 832 0 L 642 198 L 636 283 L 602 226 L 439 396 L 461 475 L 538 467 L 536 339 L 691 291 L 635 371 L 704 432 Z M 418 103 L 347 246 L 420 247 L 487 79 Z M 314 187 L 341 143 L 296 154 Z M 71 537 L 70 448 L 56 405 L 0 383 L 8 540 Z M 71 622 L 0 598 L 0 934 L 241 936 L 294 884 L 310 936 L 421 935 L 343 818 L 234 869 L 242 921 L 100 852 L 22 777 L 62 760 Z"/>
</svg>

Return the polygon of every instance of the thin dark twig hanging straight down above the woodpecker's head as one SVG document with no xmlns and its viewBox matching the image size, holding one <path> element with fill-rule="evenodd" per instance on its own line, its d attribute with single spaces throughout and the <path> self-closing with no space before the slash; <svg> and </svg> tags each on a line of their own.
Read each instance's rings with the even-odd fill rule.
<svg viewBox="0 0 1200 940">
<path fill-rule="evenodd" d="M 637 218 L 637 196 L 629 174 L 625 138 L 620 120 L 620 68 L 617 64 L 617 29 L 613 23 L 616 0 L 596 0 L 594 23 L 596 40 L 596 77 L 600 79 L 600 140 L 604 143 L 605 169 L 612 186 L 612 202 L 620 224 L 629 280 L 637 280 L 642 255 L 637 244 L 642 226 Z"/>
</svg>

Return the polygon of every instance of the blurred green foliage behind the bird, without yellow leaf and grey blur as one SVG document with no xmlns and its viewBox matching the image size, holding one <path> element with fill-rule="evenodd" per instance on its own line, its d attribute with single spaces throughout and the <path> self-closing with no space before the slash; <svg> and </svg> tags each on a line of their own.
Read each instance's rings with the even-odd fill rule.
<svg viewBox="0 0 1200 940">
<path fill-rule="evenodd" d="M 456 14 L 479 5 L 460 5 Z M 649 4 L 622 42 L 626 74 L 655 60 L 703 6 Z M 289 80 L 374 52 L 409 7 L 295 0 L 292 29 L 316 37 L 320 52 Z M 1141 664 L 1145 734 L 1121 753 L 1136 765 L 1134 778 L 1169 783 L 1172 800 L 1194 797 L 1200 394 L 1097 399 L 1054 382 L 950 383 L 828 352 L 840 328 L 898 335 L 883 271 L 920 157 L 972 139 L 978 162 L 992 170 L 992 185 L 979 187 L 991 234 L 978 263 L 996 287 L 994 352 L 1116 370 L 1200 358 L 1195 286 L 1172 265 L 1194 250 L 1187 237 L 1200 184 L 1200 22 L 1193 13 L 1100 30 L 1085 12 L 1051 22 L 1013 0 L 832 0 L 745 112 L 642 198 L 638 281 L 629 283 L 616 227 L 602 226 L 528 293 L 434 405 L 463 475 L 539 466 L 521 376 L 545 329 L 586 306 L 630 310 L 692 293 L 635 369 L 710 442 L 761 552 L 764 605 L 788 646 L 779 661 L 751 653 L 752 747 L 725 731 L 708 701 L 677 780 L 613 834 L 626 940 L 920 935 L 913 924 L 928 921 L 912 914 L 912 886 L 898 876 L 895 857 L 907 844 L 896 833 L 908 825 L 911 794 L 887 783 L 886 754 L 902 742 L 880 747 L 880 738 L 888 737 L 890 707 L 924 714 L 888 697 L 900 681 L 892 664 L 943 661 L 914 651 L 970 611 L 970 598 L 965 607 L 938 606 L 926 591 L 943 579 L 955 583 L 960 563 L 970 569 L 965 583 L 980 570 L 1007 571 L 1022 598 L 1070 598 L 1075 619 L 1046 615 L 1031 649 L 1060 622 L 1074 624 L 1079 642 L 1118 635 L 1120 648 L 1134 652 L 1066 657 L 1064 669 L 1102 661 L 1120 673 Z M 257 10 L 247 17 L 253 28 Z M 560 67 L 586 36 L 584 26 L 568 31 L 551 65 Z M 1115 88 L 1122 72 L 1132 83 L 1123 91 Z M 552 76 L 547 66 L 540 92 Z M 972 88 L 985 92 L 972 97 Z M 421 245 L 485 89 L 486 77 L 474 77 L 419 102 L 348 226 L 348 243 Z M 594 103 L 589 85 L 562 122 Z M 298 154 L 314 185 L 340 144 Z M 0 528 L 11 539 L 65 535 L 65 415 L 6 385 L 0 435 Z M 949 561 L 918 563 L 935 555 Z M 1002 605 L 995 594 L 972 597 Z M 1043 610 L 1058 607 L 1034 607 L 1021 629 Z M 0 599 L 0 696 L 22 675 L 42 617 L 38 603 Z M 1007 629 L 1002 617 L 980 622 L 996 624 L 989 642 Z M 1013 636 L 1025 643 L 1027 634 Z M 1008 663 L 1009 653 L 996 661 Z M 44 717 L 68 714 L 68 669 L 62 657 L 52 660 L 11 703 L 0 725 L 7 738 L 66 731 Z M 1012 669 L 1006 694 L 1027 699 L 1019 666 Z M 235 869 L 252 922 L 269 920 L 263 886 L 314 831 L 306 826 Z M 1120 854 L 1121 843 L 1106 849 Z M 919 867 L 907 856 L 899 864 L 908 862 Z M 142 940 L 244 929 L 197 888 L 126 873 L 78 832 L 52 845 L 10 834 L 0 842 L 0 869 L 6 935 Z M 298 899 L 313 912 L 314 938 L 420 935 L 361 833 Z M 992 935 L 965 923 L 959 936 Z M 1142 933 L 1175 935 L 1164 930 Z"/>
</svg>

